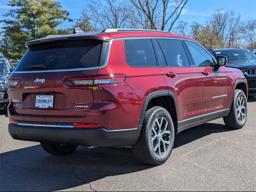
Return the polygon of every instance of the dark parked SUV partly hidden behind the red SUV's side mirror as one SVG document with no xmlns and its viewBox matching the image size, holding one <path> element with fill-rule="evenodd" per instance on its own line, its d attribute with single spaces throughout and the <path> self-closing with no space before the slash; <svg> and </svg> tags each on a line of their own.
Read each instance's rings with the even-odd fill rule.
<svg viewBox="0 0 256 192">
<path fill-rule="evenodd" d="M 226 48 L 209 50 L 215 56 L 226 56 L 227 67 L 240 69 L 247 79 L 249 94 L 256 95 L 256 55 L 248 49 Z"/>
</svg>

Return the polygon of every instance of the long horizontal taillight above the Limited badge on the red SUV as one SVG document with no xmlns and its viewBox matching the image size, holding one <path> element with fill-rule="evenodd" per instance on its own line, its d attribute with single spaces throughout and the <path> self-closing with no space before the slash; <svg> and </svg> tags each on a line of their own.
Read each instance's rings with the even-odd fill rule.
<svg viewBox="0 0 256 192">
<path fill-rule="evenodd" d="M 124 83 L 125 75 L 104 75 L 94 77 L 68 77 L 65 81 L 70 81 L 75 86 L 97 86 Z"/>
</svg>

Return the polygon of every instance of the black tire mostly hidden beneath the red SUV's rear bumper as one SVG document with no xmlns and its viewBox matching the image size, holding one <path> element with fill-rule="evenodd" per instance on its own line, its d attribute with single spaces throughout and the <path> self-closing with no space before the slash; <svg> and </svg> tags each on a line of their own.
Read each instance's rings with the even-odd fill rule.
<svg viewBox="0 0 256 192">
<path fill-rule="evenodd" d="M 40 142 L 42 148 L 53 155 L 66 155 L 76 150 L 77 146 L 60 145 L 58 143 Z"/>
</svg>

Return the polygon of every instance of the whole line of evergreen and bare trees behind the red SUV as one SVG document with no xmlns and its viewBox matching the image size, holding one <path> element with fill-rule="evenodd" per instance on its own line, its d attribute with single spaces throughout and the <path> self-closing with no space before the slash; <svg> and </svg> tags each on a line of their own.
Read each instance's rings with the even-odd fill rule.
<svg viewBox="0 0 256 192">
<path fill-rule="evenodd" d="M 19 60 L 25 42 L 49 34 L 68 34 L 79 27 L 84 32 L 106 28 L 142 28 L 172 31 L 190 36 L 206 48 L 256 48 L 256 20 L 242 21 L 233 11 L 217 10 L 205 25 L 179 19 L 188 0 L 86 0 L 79 18 L 72 19 L 54 0 L 10 0 L 10 10 L 1 20 L 0 52 Z M 63 22 L 72 28 L 57 29 Z"/>
</svg>

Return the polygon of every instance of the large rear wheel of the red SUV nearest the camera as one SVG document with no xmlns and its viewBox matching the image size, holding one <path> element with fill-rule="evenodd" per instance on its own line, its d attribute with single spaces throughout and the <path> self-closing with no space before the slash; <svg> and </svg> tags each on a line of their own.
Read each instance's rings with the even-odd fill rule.
<svg viewBox="0 0 256 192">
<path fill-rule="evenodd" d="M 167 126 L 166 122 L 168 122 Z M 164 131 L 166 134 L 164 134 Z M 146 112 L 138 141 L 132 146 L 133 152 L 144 164 L 163 164 L 172 152 L 174 136 L 174 125 L 169 112 L 165 108 L 155 106 Z M 166 143 L 164 144 L 164 142 Z"/>
</svg>

